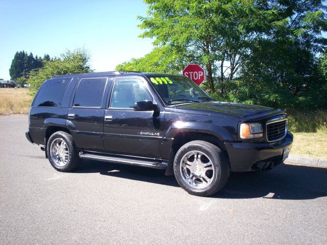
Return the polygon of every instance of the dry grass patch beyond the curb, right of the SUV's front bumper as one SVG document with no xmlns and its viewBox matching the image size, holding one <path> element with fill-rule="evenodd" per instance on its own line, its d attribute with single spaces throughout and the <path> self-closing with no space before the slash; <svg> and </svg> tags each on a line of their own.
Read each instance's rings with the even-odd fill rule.
<svg viewBox="0 0 327 245">
<path fill-rule="evenodd" d="M 315 133 L 293 133 L 292 155 L 327 159 L 327 130 Z"/>
</svg>

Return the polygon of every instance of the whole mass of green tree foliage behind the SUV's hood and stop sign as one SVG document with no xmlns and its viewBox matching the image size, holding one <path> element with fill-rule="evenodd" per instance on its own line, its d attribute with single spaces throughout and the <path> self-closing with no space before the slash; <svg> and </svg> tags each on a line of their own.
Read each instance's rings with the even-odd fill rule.
<svg viewBox="0 0 327 245">
<path fill-rule="evenodd" d="M 118 68 L 174 73 L 198 63 L 206 70 L 202 88 L 217 100 L 327 108 L 323 1 L 145 3 L 148 14 L 138 17 L 141 37 L 153 38 L 156 48 Z"/>
</svg>

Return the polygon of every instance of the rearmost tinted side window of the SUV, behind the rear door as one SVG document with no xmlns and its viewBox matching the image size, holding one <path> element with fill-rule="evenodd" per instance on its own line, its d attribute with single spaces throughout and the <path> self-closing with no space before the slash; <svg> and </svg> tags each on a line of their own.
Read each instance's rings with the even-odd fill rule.
<svg viewBox="0 0 327 245">
<path fill-rule="evenodd" d="M 62 97 L 66 91 L 69 81 L 64 79 L 50 79 L 45 81 L 39 91 L 33 106 L 52 106 L 60 107 Z"/>
</svg>

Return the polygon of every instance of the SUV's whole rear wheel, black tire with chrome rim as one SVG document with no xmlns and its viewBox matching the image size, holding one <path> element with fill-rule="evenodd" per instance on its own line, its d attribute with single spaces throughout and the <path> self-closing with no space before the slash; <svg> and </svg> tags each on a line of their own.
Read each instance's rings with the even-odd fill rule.
<svg viewBox="0 0 327 245">
<path fill-rule="evenodd" d="M 78 156 L 72 135 L 63 131 L 57 131 L 50 136 L 46 144 L 46 152 L 53 168 L 60 172 L 72 171 L 82 161 Z"/>
</svg>

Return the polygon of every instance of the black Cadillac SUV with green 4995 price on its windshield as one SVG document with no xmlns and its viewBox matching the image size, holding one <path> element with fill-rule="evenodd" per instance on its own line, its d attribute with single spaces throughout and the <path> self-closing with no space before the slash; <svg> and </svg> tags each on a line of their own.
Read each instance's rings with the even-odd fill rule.
<svg viewBox="0 0 327 245">
<path fill-rule="evenodd" d="M 26 137 L 58 171 L 83 158 L 166 169 L 205 196 L 223 188 L 230 171 L 283 162 L 293 141 L 287 124 L 281 110 L 216 102 L 182 76 L 111 71 L 46 80 Z"/>
</svg>

